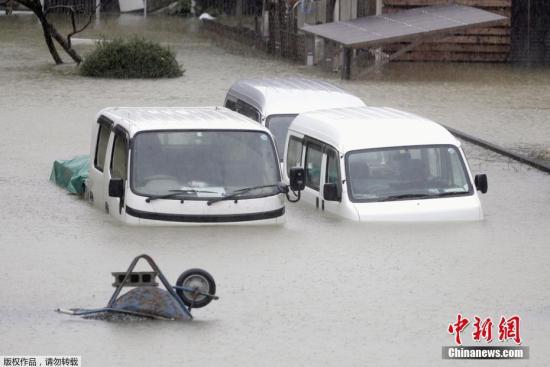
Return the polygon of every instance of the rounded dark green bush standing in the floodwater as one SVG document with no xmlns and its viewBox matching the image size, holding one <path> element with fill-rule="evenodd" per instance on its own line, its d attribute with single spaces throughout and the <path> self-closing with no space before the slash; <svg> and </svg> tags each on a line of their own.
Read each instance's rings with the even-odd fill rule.
<svg viewBox="0 0 550 367">
<path fill-rule="evenodd" d="M 183 71 L 168 47 L 141 38 L 102 40 L 80 64 L 80 74 L 103 78 L 175 78 Z"/>
</svg>

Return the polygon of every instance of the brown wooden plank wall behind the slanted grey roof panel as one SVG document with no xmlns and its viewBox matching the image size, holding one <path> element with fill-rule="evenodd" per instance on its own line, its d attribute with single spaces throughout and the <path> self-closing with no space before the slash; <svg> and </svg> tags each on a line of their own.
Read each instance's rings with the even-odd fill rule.
<svg viewBox="0 0 550 367">
<path fill-rule="evenodd" d="M 456 0 L 453 2 L 475 6 L 508 18 L 512 15 L 512 0 Z M 449 3 L 448 0 L 384 0 L 383 11 L 390 13 L 419 6 L 447 3 Z M 404 54 L 399 60 L 506 62 L 509 60 L 511 50 L 510 25 L 511 22 L 508 20 L 501 26 L 461 31 L 445 39 L 424 43 Z M 403 44 L 394 44 L 387 47 L 386 50 L 391 52 L 401 47 Z"/>
</svg>

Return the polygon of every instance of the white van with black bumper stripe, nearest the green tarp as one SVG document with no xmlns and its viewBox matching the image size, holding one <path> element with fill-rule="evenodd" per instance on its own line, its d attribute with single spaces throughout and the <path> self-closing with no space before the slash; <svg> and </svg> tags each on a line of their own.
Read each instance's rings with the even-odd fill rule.
<svg viewBox="0 0 550 367">
<path fill-rule="evenodd" d="M 226 108 L 107 108 L 91 146 L 88 196 L 123 222 L 283 221 L 271 134 Z"/>
</svg>

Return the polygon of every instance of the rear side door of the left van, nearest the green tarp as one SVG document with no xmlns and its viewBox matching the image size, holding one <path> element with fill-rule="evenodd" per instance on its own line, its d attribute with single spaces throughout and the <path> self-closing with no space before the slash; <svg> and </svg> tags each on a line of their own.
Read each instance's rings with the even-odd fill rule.
<svg viewBox="0 0 550 367">
<path fill-rule="evenodd" d="M 106 178 L 105 167 L 108 167 L 108 164 L 105 162 L 111 131 L 112 122 L 101 116 L 92 133 L 90 172 L 87 184 L 89 186 L 90 201 L 101 210 L 104 210 L 107 205 L 105 185 L 108 179 Z"/>
</svg>

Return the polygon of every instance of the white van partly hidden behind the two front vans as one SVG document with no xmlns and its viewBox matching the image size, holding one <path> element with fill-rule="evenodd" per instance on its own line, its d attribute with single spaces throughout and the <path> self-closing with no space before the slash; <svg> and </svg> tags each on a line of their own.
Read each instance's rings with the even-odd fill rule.
<svg viewBox="0 0 550 367">
<path fill-rule="evenodd" d="M 353 94 L 321 80 L 275 78 L 239 80 L 227 92 L 224 105 L 267 127 L 282 160 L 288 126 L 298 114 L 365 104 Z"/>
</svg>

